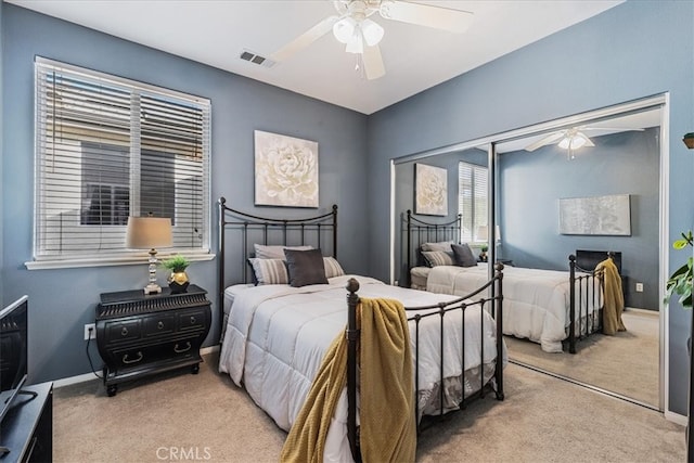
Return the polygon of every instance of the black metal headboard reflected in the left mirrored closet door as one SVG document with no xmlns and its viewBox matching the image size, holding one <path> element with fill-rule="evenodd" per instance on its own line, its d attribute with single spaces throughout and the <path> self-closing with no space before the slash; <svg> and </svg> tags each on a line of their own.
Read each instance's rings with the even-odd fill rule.
<svg viewBox="0 0 694 463">
<path fill-rule="evenodd" d="M 439 241 L 460 242 L 460 231 L 462 216 L 459 214 L 453 220 L 442 218 L 440 222 L 430 222 L 422 220 L 408 209 L 401 215 L 401 233 L 400 233 L 400 263 L 404 265 L 402 276 L 410 286 L 410 269 L 417 265 L 420 260 L 419 250 L 423 243 L 432 243 Z M 444 221 L 446 220 L 446 221 Z M 403 279 L 400 279 L 403 281 Z"/>
</svg>

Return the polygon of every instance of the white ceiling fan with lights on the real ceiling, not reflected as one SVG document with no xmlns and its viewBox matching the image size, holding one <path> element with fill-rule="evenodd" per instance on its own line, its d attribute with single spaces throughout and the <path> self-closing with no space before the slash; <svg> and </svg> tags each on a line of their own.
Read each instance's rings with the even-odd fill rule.
<svg viewBox="0 0 694 463">
<path fill-rule="evenodd" d="M 271 59 L 275 62 L 286 61 L 332 30 L 335 38 L 345 43 L 345 51 L 357 55 L 356 68 L 359 70 L 363 65 L 367 78 L 377 79 L 386 74 L 378 48 L 385 30 L 371 20 L 370 16 L 374 13 L 377 12 L 386 20 L 455 34 L 462 34 L 467 29 L 473 15 L 466 11 L 400 0 L 334 0 L 333 4 L 336 15 L 322 20 L 274 52 Z"/>
</svg>

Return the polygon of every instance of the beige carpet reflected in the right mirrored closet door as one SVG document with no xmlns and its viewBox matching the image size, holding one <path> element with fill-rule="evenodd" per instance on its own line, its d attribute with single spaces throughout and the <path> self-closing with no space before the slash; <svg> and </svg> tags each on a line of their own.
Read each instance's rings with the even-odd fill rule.
<svg viewBox="0 0 694 463">
<path fill-rule="evenodd" d="M 509 357 L 658 408 L 658 312 L 629 309 L 622 321 L 626 332 L 595 334 L 578 343 L 575 355 L 506 336 Z"/>
</svg>

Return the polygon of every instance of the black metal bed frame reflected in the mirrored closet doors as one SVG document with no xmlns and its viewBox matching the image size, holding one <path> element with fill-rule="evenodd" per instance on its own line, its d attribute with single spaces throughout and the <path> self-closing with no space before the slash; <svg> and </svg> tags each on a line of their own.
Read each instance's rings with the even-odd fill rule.
<svg viewBox="0 0 694 463">
<path fill-rule="evenodd" d="M 455 220 L 441 223 L 432 223 L 414 217 L 411 210 L 407 210 L 402 215 L 402 233 L 406 243 L 403 252 L 407 261 L 407 282 L 408 287 L 411 284 L 412 262 L 417 265 L 417 253 L 422 243 L 436 241 L 460 241 L 461 216 Z M 614 259 L 614 253 L 607 253 L 607 256 Z M 607 257 L 606 256 L 606 257 Z M 413 258 L 414 257 L 414 258 Z M 582 340 L 594 333 L 601 333 L 603 330 L 602 312 L 604 298 L 602 293 L 601 279 L 602 271 L 587 270 L 580 268 L 576 263 L 576 256 L 568 257 L 569 267 L 569 326 L 568 335 L 565 344 L 568 345 L 568 351 L 576 353 L 576 343 Z M 592 295 L 592 296 L 591 296 Z M 590 307 L 597 307 L 597 310 L 590 310 Z M 578 323 L 576 314 L 578 313 Z"/>
</svg>

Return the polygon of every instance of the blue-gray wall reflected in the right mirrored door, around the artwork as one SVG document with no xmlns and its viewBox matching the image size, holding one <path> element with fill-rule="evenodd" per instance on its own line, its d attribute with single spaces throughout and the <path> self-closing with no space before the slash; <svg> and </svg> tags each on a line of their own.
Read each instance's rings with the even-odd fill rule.
<svg viewBox="0 0 694 463">
<path fill-rule="evenodd" d="M 576 151 L 544 146 L 500 156 L 500 255 L 520 267 L 566 270 L 576 249 L 621 252 L 626 304 L 657 310 L 660 146 L 659 129 L 593 138 Z M 558 233 L 558 198 L 629 194 L 630 236 Z M 643 293 L 635 283 L 643 283 Z"/>
</svg>

